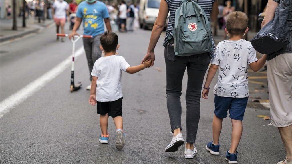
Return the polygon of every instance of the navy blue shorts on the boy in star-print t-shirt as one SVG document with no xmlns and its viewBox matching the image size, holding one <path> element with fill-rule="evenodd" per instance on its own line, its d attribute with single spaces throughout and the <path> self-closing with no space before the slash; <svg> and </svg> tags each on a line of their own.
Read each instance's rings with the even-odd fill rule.
<svg viewBox="0 0 292 164">
<path fill-rule="evenodd" d="M 234 120 L 243 120 L 248 97 L 220 97 L 215 95 L 215 111 L 214 114 L 218 118 L 226 118 L 229 110 L 229 117 Z"/>
</svg>

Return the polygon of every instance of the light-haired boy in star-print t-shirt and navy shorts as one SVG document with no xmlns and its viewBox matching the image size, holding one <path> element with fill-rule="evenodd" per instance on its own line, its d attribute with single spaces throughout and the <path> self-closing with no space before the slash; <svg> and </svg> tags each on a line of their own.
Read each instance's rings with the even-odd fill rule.
<svg viewBox="0 0 292 164">
<path fill-rule="evenodd" d="M 202 97 L 207 99 L 210 83 L 220 67 L 218 81 L 213 91 L 215 94 L 213 141 L 207 144 L 206 149 L 213 155 L 219 155 L 222 121 L 227 117 L 229 110 L 232 137 L 225 158 L 229 164 L 238 163 L 236 149 L 241 139 L 242 120 L 248 101 L 247 67 L 249 65 L 257 72 L 266 62 L 266 55 L 258 60 L 251 43 L 242 39 L 248 31 L 247 26 L 248 17 L 245 13 L 236 11 L 228 15 L 225 31 L 230 39 L 218 43 L 202 92 Z"/>
</svg>

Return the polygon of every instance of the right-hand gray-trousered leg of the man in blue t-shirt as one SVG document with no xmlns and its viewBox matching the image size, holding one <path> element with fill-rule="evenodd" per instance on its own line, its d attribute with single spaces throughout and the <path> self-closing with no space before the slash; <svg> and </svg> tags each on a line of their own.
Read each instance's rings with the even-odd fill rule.
<svg viewBox="0 0 292 164">
<path fill-rule="evenodd" d="M 93 38 L 93 43 L 92 43 L 92 53 L 91 53 L 91 63 L 88 63 L 89 66 L 89 71 L 91 73 L 92 69 L 93 69 L 93 65 L 95 63 L 96 60 L 98 60 L 101 57 L 101 49 L 99 48 L 100 46 L 100 35 L 97 35 Z M 92 76 L 90 75 L 90 81 L 92 80 Z"/>
</svg>

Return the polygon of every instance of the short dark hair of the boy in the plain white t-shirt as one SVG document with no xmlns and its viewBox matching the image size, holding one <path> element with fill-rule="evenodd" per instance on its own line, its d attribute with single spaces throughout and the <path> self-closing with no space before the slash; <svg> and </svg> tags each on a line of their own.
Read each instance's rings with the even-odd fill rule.
<svg viewBox="0 0 292 164">
<path fill-rule="evenodd" d="M 112 52 L 117 50 L 119 37 L 114 32 L 105 32 L 100 36 L 100 44 L 105 52 Z"/>
</svg>

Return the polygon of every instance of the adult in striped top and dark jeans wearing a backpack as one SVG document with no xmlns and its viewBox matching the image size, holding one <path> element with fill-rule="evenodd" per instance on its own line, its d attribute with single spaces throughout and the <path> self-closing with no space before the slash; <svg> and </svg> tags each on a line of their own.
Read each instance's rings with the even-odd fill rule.
<svg viewBox="0 0 292 164">
<path fill-rule="evenodd" d="M 198 4 L 203 8 L 206 13 L 208 20 L 217 20 L 218 15 L 218 2 L 216 0 L 200 0 Z M 159 14 L 157 20 L 154 23 L 152 34 L 150 37 L 147 54 L 145 55 L 142 63 L 145 60 L 151 59 L 152 66 L 154 64 L 155 55 L 154 48 L 157 44 L 159 36 L 164 29 L 164 24 L 170 13 L 168 26 L 166 29 L 166 37 L 164 40 L 164 59 L 166 65 L 166 104 L 171 125 L 172 139 L 170 144 L 166 146 L 165 151 L 177 151 L 178 147 L 184 142 L 183 135 L 181 133 L 181 90 L 182 81 L 185 69 L 187 69 L 187 91 L 186 91 L 186 125 L 187 125 L 187 139 L 185 145 L 185 158 L 194 158 L 197 154 L 197 150 L 194 146 L 196 141 L 198 123 L 200 118 L 200 97 L 201 97 L 201 86 L 203 84 L 204 75 L 208 68 L 211 56 L 213 52 L 209 49 L 210 53 L 194 54 L 189 56 L 177 56 L 174 52 L 174 39 L 173 29 L 175 22 L 175 10 L 180 6 L 180 0 L 166 0 L 161 1 Z M 191 24 L 188 27 L 189 30 L 196 30 L 196 25 Z M 171 38 L 171 39 L 169 39 Z M 213 42 L 213 49 L 215 44 Z"/>
</svg>

